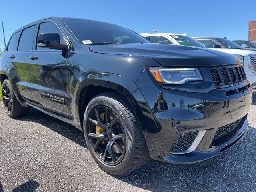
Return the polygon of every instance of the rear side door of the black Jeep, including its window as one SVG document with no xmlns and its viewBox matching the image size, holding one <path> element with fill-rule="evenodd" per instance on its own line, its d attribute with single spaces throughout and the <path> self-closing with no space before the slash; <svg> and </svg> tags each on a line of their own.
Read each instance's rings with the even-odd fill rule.
<svg viewBox="0 0 256 192">
<path fill-rule="evenodd" d="M 10 76 L 12 77 L 12 84 L 15 90 L 18 91 L 18 97 L 22 97 L 25 101 L 32 100 L 30 91 L 30 75 L 28 68 L 28 55 L 32 50 L 34 33 L 36 30 L 36 23 L 26 26 L 21 32 L 13 35 L 13 41 L 18 39 L 18 47 L 15 42 L 10 41 L 10 51 L 7 68 L 10 69 Z M 8 52 L 9 52 L 8 51 Z"/>
</svg>

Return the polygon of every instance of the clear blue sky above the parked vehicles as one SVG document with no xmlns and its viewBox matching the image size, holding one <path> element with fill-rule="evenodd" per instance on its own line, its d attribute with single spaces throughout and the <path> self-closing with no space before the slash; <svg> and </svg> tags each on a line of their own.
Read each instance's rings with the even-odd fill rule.
<svg viewBox="0 0 256 192">
<path fill-rule="evenodd" d="M 71 2 L 71 3 L 70 3 Z M 4 0 L 0 22 L 6 43 L 14 29 L 48 16 L 66 16 L 118 24 L 138 33 L 186 32 L 188 36 L 248 39 L 248 21 L 256 20 L 255 0 Z M 0 48 L 4 48 L 0 25 Z"/>
</svg>

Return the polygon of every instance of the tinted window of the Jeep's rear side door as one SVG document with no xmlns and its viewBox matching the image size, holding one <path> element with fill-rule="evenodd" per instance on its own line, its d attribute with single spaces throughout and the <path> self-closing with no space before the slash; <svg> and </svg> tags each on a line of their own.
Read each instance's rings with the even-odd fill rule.
<svg viewBox="0 0 256 192">
<path fill-rule="evenodd" d="M 20 41 L 19 41 L 18 51 L 32 50 L 34 29 L 35 29 L 35 26 L 32 26 L 22 31 Z"/>
</svg>

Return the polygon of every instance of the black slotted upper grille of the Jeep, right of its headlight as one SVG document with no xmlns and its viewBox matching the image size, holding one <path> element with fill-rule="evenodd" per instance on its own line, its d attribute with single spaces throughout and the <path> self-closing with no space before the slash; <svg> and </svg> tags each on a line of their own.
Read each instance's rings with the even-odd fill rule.
<svg viewBox="0 0 256 192">
<path fill-rule="evenodd" d="M 246 74 L 242 66 L 210 68 L 209 72 L 216 87 L 239 84 L 246 80 Z"/>
</svg>

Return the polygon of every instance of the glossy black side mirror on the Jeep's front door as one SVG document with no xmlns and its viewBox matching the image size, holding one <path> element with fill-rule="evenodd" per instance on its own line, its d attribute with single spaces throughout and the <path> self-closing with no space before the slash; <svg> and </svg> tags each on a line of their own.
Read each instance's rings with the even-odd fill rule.
<svg viewBox="0 0 256 192">
<path fill-rule="evenodd" d="M 48 49 L 67 50 L 67 44 L 60 44 L 60 35 L 58 33 L 38 34 L 36 45 Z"/>
</svg>

